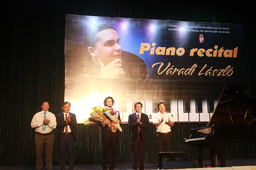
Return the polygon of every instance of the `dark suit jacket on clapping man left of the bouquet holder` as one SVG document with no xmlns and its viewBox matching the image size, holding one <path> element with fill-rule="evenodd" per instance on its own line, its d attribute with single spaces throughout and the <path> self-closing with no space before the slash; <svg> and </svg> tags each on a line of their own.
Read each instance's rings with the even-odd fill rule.
<svg viewBox="0 0 256 170">
<path fill-rule="evenodd" d="M 74 139 L 76 140 L 76 131 L 75 131 L 75 128 L 77 126 L 76 115 L 74 113 L 70 113 L 70 112 L 69 112 L 69 114 L 70 114 L 70 122 L 67 122 L 67 123 L 64 119 L 63 112 L 56 115 L 57 128 L 59 129 L 58 133 L 57 133 L 57 141 L 58 142 L 61 140 L 61 136 L 62 136 L 62 133 L 63 133 L 66 125 L 69 125 L 72 135 L 73 135 Z"/>
</svg>

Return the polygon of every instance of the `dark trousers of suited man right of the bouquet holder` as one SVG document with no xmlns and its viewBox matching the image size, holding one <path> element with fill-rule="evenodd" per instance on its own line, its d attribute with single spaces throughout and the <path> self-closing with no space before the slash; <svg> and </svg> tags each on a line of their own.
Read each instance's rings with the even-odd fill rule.
<svg viewBox="0 0 256 170">
<path fill-rule="evenodd" d="M 133 169 L 138 169 L 138 150 L 140 154 L 139 168 L 144 170 L 144 153 L 145 153 L 146 140 L 142 140 L 140 134 L 138 134 L 136 140 L 131 140 L 131 146 L 133 149 Z"/>
</svg>

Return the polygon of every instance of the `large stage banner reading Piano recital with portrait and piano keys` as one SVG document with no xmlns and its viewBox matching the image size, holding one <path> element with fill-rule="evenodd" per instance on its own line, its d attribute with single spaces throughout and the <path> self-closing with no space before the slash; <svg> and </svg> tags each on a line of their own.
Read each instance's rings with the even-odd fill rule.
<svg viewBox="0 0 256 170">
<path fill-rule="evenodd" d="M 66 15 L 65 101 L 79 123 L 107 96 L 123 123 L 138 101 L 150 122 L 160 101 L 176 122 L 208 122 L 224 85 L 246 82 L 243 41 L 240 24 Z"/>
</svg>

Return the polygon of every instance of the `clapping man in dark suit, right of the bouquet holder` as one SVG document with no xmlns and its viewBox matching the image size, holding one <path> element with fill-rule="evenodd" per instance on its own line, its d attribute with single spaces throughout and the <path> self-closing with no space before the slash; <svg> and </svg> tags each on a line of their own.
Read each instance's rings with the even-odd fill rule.
<svg viewBox="0 0 256 170">
<path fill-rule="evenodd" d="M 133 169 L 138 168 L 138 150 L 140 153 L 140 170 L 144 170 L 144 151 L 146 145 L 146 128 L 149 127 L 148 115 L 141 113 L 142 103 L 134 104 L 136 113 L 130 114 L 128 127 L 131 128 L 131 145 L 133 149 Z"/>
</svg>

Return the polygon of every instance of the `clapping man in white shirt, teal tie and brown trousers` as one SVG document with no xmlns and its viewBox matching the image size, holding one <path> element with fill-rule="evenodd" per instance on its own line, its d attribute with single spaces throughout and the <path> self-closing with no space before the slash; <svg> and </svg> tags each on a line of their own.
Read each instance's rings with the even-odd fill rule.
<svg viewBox="0 0 256 170">
<path fill-rule="evenodd" d="M 56 118 L 50 113 L 49 102 L 41 102 L 42 111 L 36 113 L 31 121 L 31 127 L 35 128 L 35 150 L 36 150 L 36 169 L 43 167 L 43 149 L 45 146 L 46 170 L 52 170 L 52 149 L 54 136 L 52 130 L 56 128 Z"/>
</svg>

